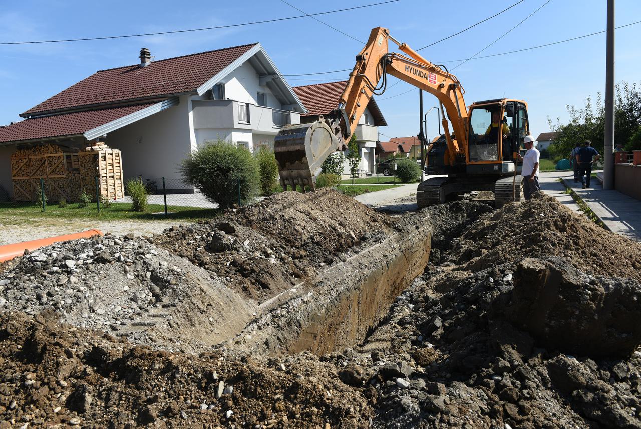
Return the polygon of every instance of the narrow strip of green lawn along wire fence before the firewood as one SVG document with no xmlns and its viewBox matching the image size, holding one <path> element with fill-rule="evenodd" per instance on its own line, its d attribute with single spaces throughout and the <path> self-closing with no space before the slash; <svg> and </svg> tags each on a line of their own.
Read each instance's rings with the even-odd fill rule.
<svg viewBox="0 0 641 429">
<path fill-rule="evenodd" d="M 162 204 L 149 204 L 147 213 L 135 212 L 131 209 L 131 203 L 114 202 L 109 208 L 100 207 L 100 214 L 97 213 L 96 204 L 92 203 L 87 207 L 79 207 L 78 203 L 67 204 L 66 207 L 57 205 L 47 206 L 46 211 L 33 203 L 0 202 L 0 216 L 21 216 L 27 218 L 88 218 L 102 220 L 158 220 L 158 219 L 193 219 L 199 220 L 211 218 L 217 215 L 216 209 L 199 209 L 197 207 L 171 206 L 167 216 L 152 215 L 151 213 L 164 212 Z"/>
</svg>

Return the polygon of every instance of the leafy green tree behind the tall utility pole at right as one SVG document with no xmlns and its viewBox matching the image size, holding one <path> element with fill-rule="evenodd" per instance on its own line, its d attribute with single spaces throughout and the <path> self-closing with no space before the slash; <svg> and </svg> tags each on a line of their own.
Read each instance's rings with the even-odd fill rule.
<svg viewBox="0 0 641 429">
<path fill-rule="evenodd" d="M 623 145 L 629 144 L 629 140 L 641 125 L 641 92 L 637 84 L 629 85 L 622 82 L 616 86 L 615 96 L 615 142 Z M 592 147 L 599 153 L 603 153 L 605 134 L 605 106 L 601 93 L 597 93 L 595 108 L 592 106 L 592 97 L 588 96 L 585 106 L 578 109 L 574 106 L 566 106 L 570 115 L 567 124 L 561 124 L 557 118 L 554 125 L 550 118 L 547 122 L 550 129 L 557 134 L 554 143 L 549 147 L 549 152 L 555 160 L 566 158 L 576 145 L 585 140 L 592 142 Z"/>
</svg>

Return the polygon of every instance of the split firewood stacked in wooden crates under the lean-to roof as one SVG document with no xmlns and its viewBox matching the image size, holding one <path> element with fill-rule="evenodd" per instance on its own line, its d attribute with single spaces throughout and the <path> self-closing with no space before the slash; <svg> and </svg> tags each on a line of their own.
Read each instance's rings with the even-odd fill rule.
<svg viewBox="0 0 641 429">
<path fill-rule="evenodd" d="M 96 177 L 102 197 L 124 196 L 121 152 L 103 142 L 84 150 L 51 143 L 18 149 L 11 156 L 11 171 L 16 201 L 37 200 L 40 178 L 49 202 L 75 202 L 83 191 L 96 200 Z"/>
</svg>

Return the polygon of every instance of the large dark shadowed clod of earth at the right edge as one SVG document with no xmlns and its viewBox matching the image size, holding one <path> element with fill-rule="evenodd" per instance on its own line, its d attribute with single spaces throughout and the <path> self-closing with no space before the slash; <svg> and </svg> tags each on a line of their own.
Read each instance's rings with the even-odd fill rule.
<svg viewBox="0 0 641 429">
<path fill-rule="evenodd" d="M 563 259 L 524 259 L 512 301 L 500 309 L 547 348 L 590 357 L 629 357 L 641 344 L 641 286 L 565 267 Z"/>
</svg>

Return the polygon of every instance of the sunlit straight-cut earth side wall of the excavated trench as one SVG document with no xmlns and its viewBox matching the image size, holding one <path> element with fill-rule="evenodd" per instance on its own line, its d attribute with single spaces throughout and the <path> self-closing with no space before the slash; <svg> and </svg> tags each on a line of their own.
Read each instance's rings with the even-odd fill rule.
<svg viewBox="0 0 641 429">
<path fill-rule="evenodd" d="M 323 355 L 362 343 L 427 266 L 432 226 L 426 219 L 263 304 L 260 317 L 228 344 L 231 350 Z"/>
</svg>

